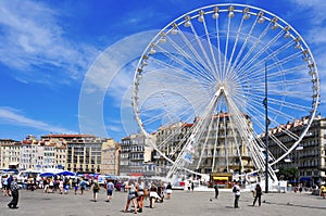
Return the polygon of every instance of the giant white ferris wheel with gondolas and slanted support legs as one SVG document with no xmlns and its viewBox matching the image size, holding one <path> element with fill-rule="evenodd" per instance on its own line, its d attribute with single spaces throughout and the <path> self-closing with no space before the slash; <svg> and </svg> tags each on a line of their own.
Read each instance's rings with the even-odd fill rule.
<svg viewBox="0 0 326 216">
<path fill-rule="evenodd" d="M 244 4 L 203 7 L 168 23 L 145 49 L 133 88 L 136 119 L 167 177 L 236 164 L 239 173 L 250 164 L 265 170 L 266 154 L 273 177 L 318 102 L 317 67 L 303 38 Z M 285 126 L 302 116 L 300 131 Z M 274 151 L 266 153 L 267 129 Z"/>
</svg>

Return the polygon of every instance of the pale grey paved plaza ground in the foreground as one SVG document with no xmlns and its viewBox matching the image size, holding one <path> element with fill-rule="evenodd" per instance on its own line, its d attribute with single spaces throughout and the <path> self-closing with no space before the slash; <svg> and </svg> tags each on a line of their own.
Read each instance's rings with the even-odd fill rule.
<svg viewBox="0 0 326 216">
<path fill-rule="evenodd" d="M 20 203 L 17 209 L 10 209 L 7 204 L 11 198 L 0 198 L 1 216 L 115 216 L 134 215 L 134 212 L 123 213 L 126 204 L 127 193 L 114 192 L 113 200 L 105 202 L 105 190 L 102 189 L 98 202 L 92 201 L 92 193 L 86 191 L 83 196 L 79 193 L 75 195 L 73 191 L 68 194 L 43 193 L 37 191 L 20 191 Z M 314 216 L 325 215 L 326 199 L 323 200 L 311 193 L 268 193 L 263 194 L 261 207 L 252 207 L 252 194 L 242 192 L 239 206 L 234 208 L 234 194 L 230 191 L 220 191 L 218 199 L 215 200 L 213 191 L 173 191 L 172 199 L 163 203 L 155 203 L 154 208 L 149 207 L 149 200 L 145 201 L 145 208 L 138 215 L 268 215 L 268 216 Z"/>
</svg>

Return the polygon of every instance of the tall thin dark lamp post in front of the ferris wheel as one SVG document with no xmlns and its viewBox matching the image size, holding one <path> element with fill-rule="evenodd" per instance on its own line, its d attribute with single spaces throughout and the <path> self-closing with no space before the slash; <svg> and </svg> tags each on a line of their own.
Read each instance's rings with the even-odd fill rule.
<svg viewBox="0 0 326 216">
<path fill-rule="evenodd" d="M 263 101 L 265 106 L 265 193 L 268 193 L 268 106 L 267 106 L 267 62 L 265 62 L 265 99 Z"/>
</svg>

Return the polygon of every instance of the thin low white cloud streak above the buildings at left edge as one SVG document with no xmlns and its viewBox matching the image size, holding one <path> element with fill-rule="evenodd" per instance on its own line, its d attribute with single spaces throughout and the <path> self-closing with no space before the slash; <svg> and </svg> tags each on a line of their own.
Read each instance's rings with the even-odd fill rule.
<svg viewBox="0 0 326 216">
<path fill-rule="evenodd" d="M 23 114 L 21 114 L 20 111 L 11 107 L 0 107 L 0 119 L 1 119 L 1 124 L 25 126 L 25 127 L 30 127 L 30 128 L 40 129 L 50 132 L 76 134 L 75 131 L 68 130 L 66 128 L 57 127 L 48 123 L 43 123 L 40 120 L 26 117 Z"/>
</svg>

